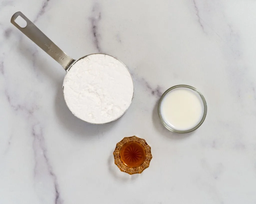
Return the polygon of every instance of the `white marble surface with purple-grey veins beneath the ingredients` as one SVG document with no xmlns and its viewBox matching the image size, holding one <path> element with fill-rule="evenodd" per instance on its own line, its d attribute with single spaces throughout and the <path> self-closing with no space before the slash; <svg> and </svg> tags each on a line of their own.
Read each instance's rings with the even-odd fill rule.
<svg viewBox="0 0 256 204">
<path fill-rule="evenodd" d="M 256 2 L 0 0 L 0 203 L 256 203 Z M 106 125 L 75 118 L 65 70 L 10 23 L 22 11 L 68 55 L 129 67 L 135 96 Z M 198 88 L 208 114 L 193 133 L 159 122 L 161 93 Z M 145 138 L 150 167 L 128 175 L 112 152 Z"/>
</svg>

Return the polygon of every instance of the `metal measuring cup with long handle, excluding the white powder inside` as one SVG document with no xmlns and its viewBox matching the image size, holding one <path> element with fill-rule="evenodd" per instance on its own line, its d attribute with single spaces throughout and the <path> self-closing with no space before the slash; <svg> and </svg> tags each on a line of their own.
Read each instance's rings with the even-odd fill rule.
<svg viewBox="0 0 256 204">
<path fill-rule="evenodd" d="M 22 28 L 20 27 L 16 22 L 15 22 L 15 19 L 20 16 L 22 17 L 27 25 L 26 27 Z M 88 56 L 92 56 L 92 55 L 99 55 L 98 54 L 91 54 L 91 55 L 86 55 L 86 56 L 83 56 L 81 57 L 80 59 L 78 60 L 74 60 L 72 59 L 71 57 L 69 57 L 66 53 L 64 53 L 57 45 L 55 45 L 44 33 L 42 33 L 42 31 L 40 31 L 22 12 L 18 11 L 16 12 L 12 18 L 11 18 L 11 23 L 13 25 L 15 25 L 16 28 L 18 28 L 23 34 L 25 34 L 30 40 L 32 40 L 35 44 L 37 44 L 42 50 L 44 50 L 48 55 L 50 55 L 53 59 L 55 59 L 68 73 L 68 71 L 70 70 L 70 68 L 76 63 L 78 62 L 80 59 L 83 59 L 85 57 L 88 57 Z M 102 55 L 102 54 L 100 54 Z M 107 55 L 109 57 L 112 57 L 110 55 Z M 114 58 L 114 57 L 112 57 Z M 115 58 L 116 59 L 116 58 Z M 120 63 L 122 63 L 120 60 L 116 59 L 117 61 L 119 61 Z M 128 68 L 122 63 L 122 65 L 127 69 L 127 71 L 129 72 Z M 130 72 L 129 72 L 130 74 Z M 66 74 L 67 76 L 67 74 Z M 65 77 L 66 77 L 65 76 Z M 131 77 L 131 80 L 132 80 L 132 76 L 131 74 L 129 75 Z M 64 78 L 65 80 L 65 78 Z M 131 97 L 131 101 L 130 101 L 130 104 L 132 102 L 132 98 L 133 98 L 133 93 L 134 93 L 134 85 L 133 85 L 133 81 L 132 81 L 132 86 L 133 86 L 133 91 L 132 91 L 132 97 Z M 63 86 L 63 95 L 64 95 L 64 99 L 65 99 L 65 92 L 64 92 L 64 86 Z M 65 102 L 67 104 L 67 101 L 65 99 Z M 127 109 L 129 108 L 130 104 L 128 104 L 128 107 Z M 68 104 L 67 104 L 68 106 Z M 71 110 L 71 108 L 68 106 L 68 108 L 70 109 L 70 111 L 74 114 L 74 116 L 80 118 L 81 120 L 84 120 L 82 119 L 81 117 L 77 116 L 78 113 L 76 112 L 73 112 Z M 104 122 L 104 123 L 108 123 L 108 122 L 112 122 L 118 118 L 120 118 L 126 111 L 127 109 L 120 113 L 119 116 L 117 116 L 116 118 L 114 118 L 113 120 L 111 121 L 107 121 L 107 122 Z M 84 120 L 86 121 L 86 120 Z M 92 123 L 92 122 L 89 122 L 89 121 L 86 121 L 88 123 Z M 104 124 L 104 123 L 92 123 L 92 124 Z"/>
</svg>

